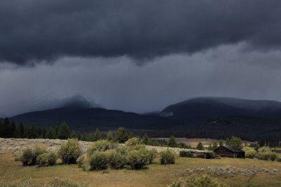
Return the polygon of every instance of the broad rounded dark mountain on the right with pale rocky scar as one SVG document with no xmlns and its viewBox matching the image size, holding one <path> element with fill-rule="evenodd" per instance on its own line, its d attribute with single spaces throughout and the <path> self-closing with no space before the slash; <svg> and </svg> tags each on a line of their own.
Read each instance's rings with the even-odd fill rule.
<svg viewBox="0 0 281 187">
<path fill-rule="evenodd" d="M 281 103 L 242 98 L 199 97 L 169 105 L 159 115 L 183 121 L 228 116 L 280 118 Z"/>
</svg>

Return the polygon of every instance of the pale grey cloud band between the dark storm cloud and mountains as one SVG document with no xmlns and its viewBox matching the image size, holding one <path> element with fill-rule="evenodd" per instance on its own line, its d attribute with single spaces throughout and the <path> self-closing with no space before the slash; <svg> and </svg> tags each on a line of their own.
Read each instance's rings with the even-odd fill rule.
<svg viewBox="0 0 281 187">
<path fill-rule="evenodd" d="M 133 112 L 162 110 L 196 96 L 281 101 L 280 51 L 244 48 L 219 46 L 192 56 L 155 58 L 142 66 L 126 56 L 61 58 L 52 66 L 33 68 L 0 64 L 0 117 L 32 111 L 42 98 L 76 93 L 107 109 Z"/>
</svg>

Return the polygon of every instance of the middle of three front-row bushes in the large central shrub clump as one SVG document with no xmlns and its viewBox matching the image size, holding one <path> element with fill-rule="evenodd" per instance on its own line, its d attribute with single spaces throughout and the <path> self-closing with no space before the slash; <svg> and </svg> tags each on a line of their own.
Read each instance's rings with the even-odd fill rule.
<svg viewBox="0 0 281 187">
<path fill-rule="evenodd" d="M 116 151 L 111 150 L 108 154 L 108 162 L 112 169 L 122 169 L 126 165 L 126 155 Z"/>
</svg>

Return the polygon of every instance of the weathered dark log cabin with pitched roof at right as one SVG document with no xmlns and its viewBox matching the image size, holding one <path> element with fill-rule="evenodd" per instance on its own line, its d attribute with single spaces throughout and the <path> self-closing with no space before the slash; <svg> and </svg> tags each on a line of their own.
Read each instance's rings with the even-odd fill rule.
<svg viewBox="0 0 281 187">
<path fill-rule="evenodd" d="M 216 156 L 221 157 L 245 157 L 244 150 L 237 148 L 236 146 L 219 146 L 214 150 Z"/>
</svg>

